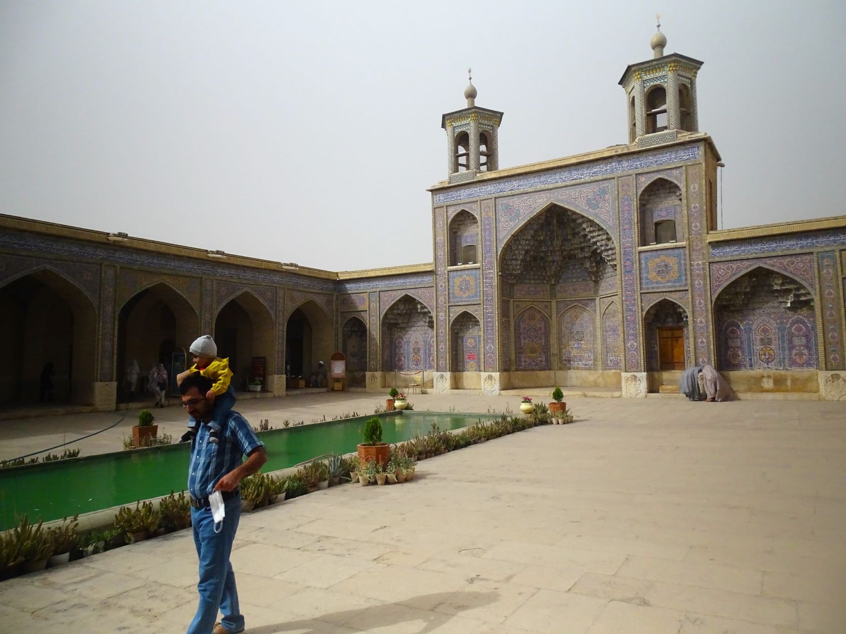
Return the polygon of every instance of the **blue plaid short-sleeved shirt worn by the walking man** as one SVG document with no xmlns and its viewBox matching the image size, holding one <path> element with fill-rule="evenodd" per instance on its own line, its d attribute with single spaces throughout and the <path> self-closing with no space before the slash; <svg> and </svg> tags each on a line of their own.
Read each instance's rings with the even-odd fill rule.
<svg viewBox="0 0 846 634">
<path fill-rule="evenodd" d="M 214 491 L 217 480 L 239 467 L 244 456 L 261 447 L 253 428 L 237 412 L 230 411 L 220 421 L 220 441 L 209 442 L 209 426 L 200 425 L 191 441 L 191 462 L 188 469 L 188 491 L 196 500 L 206 498 Z"/>
</svg>

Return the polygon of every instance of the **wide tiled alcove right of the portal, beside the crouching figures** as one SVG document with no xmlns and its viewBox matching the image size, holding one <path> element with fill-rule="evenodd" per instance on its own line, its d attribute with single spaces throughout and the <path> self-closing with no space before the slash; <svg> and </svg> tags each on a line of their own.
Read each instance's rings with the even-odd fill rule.
<svg viewBox="0 0 846 634">
<path fill-rule="evenodd" d="M 784 273 L 757 267 L 714 301 L 722 370 L 816 369 L 814 296 Z"/>
</svg>

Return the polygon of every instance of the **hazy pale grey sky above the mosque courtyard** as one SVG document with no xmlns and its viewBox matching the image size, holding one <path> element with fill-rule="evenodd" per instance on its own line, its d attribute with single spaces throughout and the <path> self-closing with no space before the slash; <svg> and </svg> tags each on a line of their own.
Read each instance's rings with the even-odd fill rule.
<svg viewBox="0 0 846 634">
<path fill-rule="evenodd" d="M 846 3 L 0 3 L 0 211 L 330 270 L 431 262 L 441 115 L 500 167 L 624 143 L 617 81 L 703 60 L 726 227 L 843 214 Z M 840 78 L 840 79 L 838 79 Z"/>
</svg>

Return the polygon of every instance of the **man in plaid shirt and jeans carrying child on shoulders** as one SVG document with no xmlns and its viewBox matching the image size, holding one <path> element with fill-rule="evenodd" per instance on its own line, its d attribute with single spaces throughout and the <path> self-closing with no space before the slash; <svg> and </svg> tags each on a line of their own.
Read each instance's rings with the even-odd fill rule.
<svg viewBox="0 0 846 634">
<path fill-rule="evenodd" d="M 182 407 L 197 421 L 200 429 L 191 440 L 188 470 L 188 491 L 191 496 L 191 523 L 194 544 L 200 559 L 200 605 L 188 634 L 236 634 L 244 631 L 244 615 L 238 604 L 235 573 L 229 563 L 235 531 L 241 516 L 242 478 L 255 473 L 267 462 L 264 445 L 255 437 L 252 427 L 237 412 L 229 411 L 222 420 L 220 441 L 209 442 L 212 404 L 206 399 L 211 380 L 202 374 L 190 374 L 179 385 Z M 247 460 L 241 462 L 243 456 Z M 222 526 L 215 527 L 209 495 L 220 491 L 226 509 Z M 223 618 L 216 623 L 217 610 Z"/>
</svg>

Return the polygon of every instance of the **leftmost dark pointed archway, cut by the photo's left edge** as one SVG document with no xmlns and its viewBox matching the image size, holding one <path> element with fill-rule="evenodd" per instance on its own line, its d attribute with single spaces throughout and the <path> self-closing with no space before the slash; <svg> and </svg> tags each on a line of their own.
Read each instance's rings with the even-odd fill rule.
<svg viewBox="0 0 846 634">
<path fill-rule="evenodd" d="M 8 282 L 0 332 L 0 402 L 95 402 L 96 309 L 73 282 L 50 269 Z"/>
</svg>

